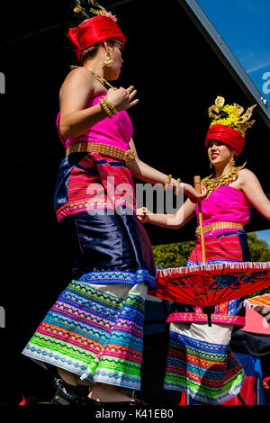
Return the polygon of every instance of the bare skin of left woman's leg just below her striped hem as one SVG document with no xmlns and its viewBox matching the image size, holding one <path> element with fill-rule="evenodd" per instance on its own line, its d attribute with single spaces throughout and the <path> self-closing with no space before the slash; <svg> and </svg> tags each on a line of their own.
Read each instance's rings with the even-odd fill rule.
<svg viewBox="0 0 270 423">
<path fill-rule="evenodd" d="M 100 402 L 134 401 L 124 393 L 120 392 L 117 386 L 106 383 L 94 383 L 88 397 L 94 401 Z"/>
</svg>

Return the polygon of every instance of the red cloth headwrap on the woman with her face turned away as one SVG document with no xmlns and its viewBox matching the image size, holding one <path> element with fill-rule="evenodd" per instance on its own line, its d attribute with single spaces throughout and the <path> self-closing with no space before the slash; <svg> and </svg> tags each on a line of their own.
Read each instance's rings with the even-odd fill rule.
<svg viewBox="0 0 270 423">
<path fill-rule="evenodd" d="M 76 28 L 69 28 L 67 38 L 73 45 L 78 61 L 82 50 L 99 42 L 118 40 L 121 41 L 121 48 L 123 48 L 125 37 L 115 21 L 116 19 L 110 13 L 99 14 L 87 19 Z"/>
</svg>

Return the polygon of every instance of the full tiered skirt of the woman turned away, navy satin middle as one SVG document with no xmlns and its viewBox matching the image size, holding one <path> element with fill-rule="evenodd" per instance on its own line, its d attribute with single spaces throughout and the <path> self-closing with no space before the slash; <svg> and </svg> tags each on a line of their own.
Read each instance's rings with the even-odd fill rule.
<svg viewBox="0 0 270 423">
<path fill-rule="evenodd" d="M 114 191 L 108 184 L 112 175 Z M 89 384 L 139 390 L 144 303 L 156 267 L 136 215 L 115 210 L 123 204 L 117 190 L 121 183 L 132 187 L 130 169 L 115 159 L 76 153 L 63 160 L 56 204 L 60 225 L 72 234 L 63 246 L 74 251 L 72 281 L 23 355 L 66 369 Z M 128 210 L 132 195 L 130 191 Z"/>
</svg>

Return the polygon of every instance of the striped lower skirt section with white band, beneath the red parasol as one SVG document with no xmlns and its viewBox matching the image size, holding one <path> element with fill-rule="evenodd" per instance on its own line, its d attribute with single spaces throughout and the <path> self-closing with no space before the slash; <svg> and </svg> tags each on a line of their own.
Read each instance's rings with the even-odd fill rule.
<svg viewBox="0 0 270 423">
<path fill-rule="evenodd" d="M 172 324 L 165 389 L 185 392 L 193 401 L 211 405 L 236 396 L 245 374 L 229 349 L 229 335 L 229 328 L 215 324 L 211 328 L 203 323 Z"/>
</svg>

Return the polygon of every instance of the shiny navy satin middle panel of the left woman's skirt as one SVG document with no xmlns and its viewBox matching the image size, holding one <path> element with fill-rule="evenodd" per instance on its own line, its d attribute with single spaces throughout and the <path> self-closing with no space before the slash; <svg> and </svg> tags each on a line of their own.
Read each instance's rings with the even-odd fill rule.
<svg viewBox="0 0 270 423">
<path fill-rule="evenodd" d="M 155 284 L 153 250 L 136 216 L 83 211 L 60 224 L 65 223 L 72 229 L 74 279 L 91 284 Z"/>
</svg>

